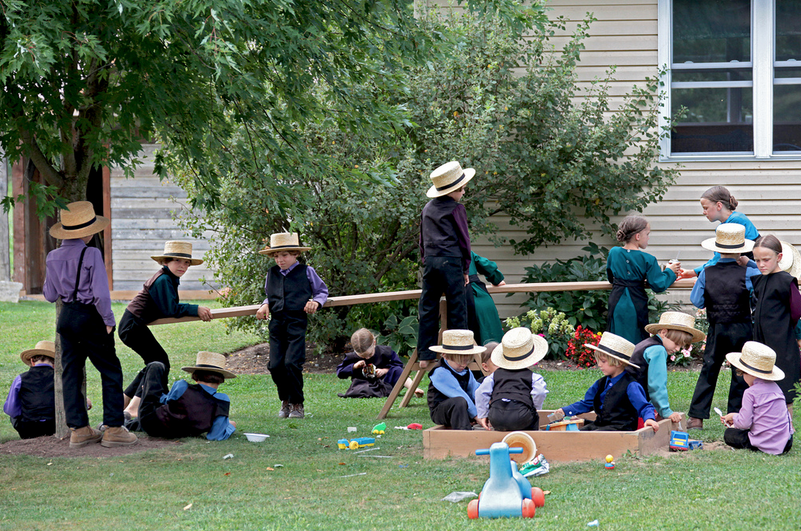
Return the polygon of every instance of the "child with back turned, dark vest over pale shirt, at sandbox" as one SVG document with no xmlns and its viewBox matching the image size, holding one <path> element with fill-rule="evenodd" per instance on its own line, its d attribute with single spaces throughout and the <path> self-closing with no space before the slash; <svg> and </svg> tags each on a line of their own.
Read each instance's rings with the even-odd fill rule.
<svg viewBox="0 0 801 531">
<path fill-rule="evenodd" d="M 513 328 L 492 353 L 497 367 L 476 392 L 476 420 L 484 429 L 498 431 L 538 430 L 538 409 L 548 389 L 531 367 L 548 353 L 548 342 L 528 328 Z"/>
</svg>

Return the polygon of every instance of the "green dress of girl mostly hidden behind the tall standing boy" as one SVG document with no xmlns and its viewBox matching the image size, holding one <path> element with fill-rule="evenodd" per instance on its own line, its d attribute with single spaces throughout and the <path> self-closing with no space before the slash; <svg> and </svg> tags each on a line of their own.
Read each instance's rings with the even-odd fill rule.
<svg viewBox="0 0 801 531">
<path fill-rule="evenodd" d="M 492 260 L 473 252 L 470 253 L 470 256 L 472 260 L 470 260 L 470 269 L 467 272 L 470 276 L 470 286 L 473 288 L 471 290 L 473 304 L 469 300 L 467 302 L 470 329 L 479 345 L 486 345 L 490 341 L 500 343 L 503 338 L 501 318 L 498 316 L 498 309 L 495 308 L 495 301 L 492 300 L 486 285 L 478 275 L 484 275 L 490 284 L 495 285 L 503 280 L 503 273 L 498 270 L 498 264 Z"/>
</svg>

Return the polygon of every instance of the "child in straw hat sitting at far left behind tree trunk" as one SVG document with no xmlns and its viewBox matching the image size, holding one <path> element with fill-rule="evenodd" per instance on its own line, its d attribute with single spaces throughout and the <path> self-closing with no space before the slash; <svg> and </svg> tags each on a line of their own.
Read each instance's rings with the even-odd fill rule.
<svg viewBox="0 0 801 531">
<path fill-rule="evenodd" d="M 39 341 L 36 347 L 19 355 L 30 367 L 14 378 L 3 411 L 11 417 L 11 425 L 21 439 L 33 439 L 56 432 L 56 395 L 53 387 L 53 366 L 56 345 Z"/>
</svg>

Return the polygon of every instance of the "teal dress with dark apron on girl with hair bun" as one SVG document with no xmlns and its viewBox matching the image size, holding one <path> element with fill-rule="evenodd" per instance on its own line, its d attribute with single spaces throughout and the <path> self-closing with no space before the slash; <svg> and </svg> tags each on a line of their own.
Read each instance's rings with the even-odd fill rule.
<svg viewBox="0 0 801 531">
<path fill-rule="evenodd" d="M 649 288 L 659 293 L 675 282 L 676 274 L 670 269 L 662 271 L 656 258 L 648 253 L 615 247 L 609 251 L 606 260 L 606 276 L 612 283 L 606 329 L 635 345 L 648 339 L 649 334 L 645 331 L 648 324 L 645 281 L 648 281 Z"/>
</svg>

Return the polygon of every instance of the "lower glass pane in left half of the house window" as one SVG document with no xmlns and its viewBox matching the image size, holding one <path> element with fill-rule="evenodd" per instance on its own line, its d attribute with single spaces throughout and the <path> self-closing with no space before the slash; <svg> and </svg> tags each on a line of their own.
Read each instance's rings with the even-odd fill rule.
<svg viewBox="0 0 801 531">
<path fill-rule="evenodd" d="M 672 153 L 754 150 L 751 88 L 673 89 L 671 105 L 687 109 L 673 124 Z"/>
</svg>

